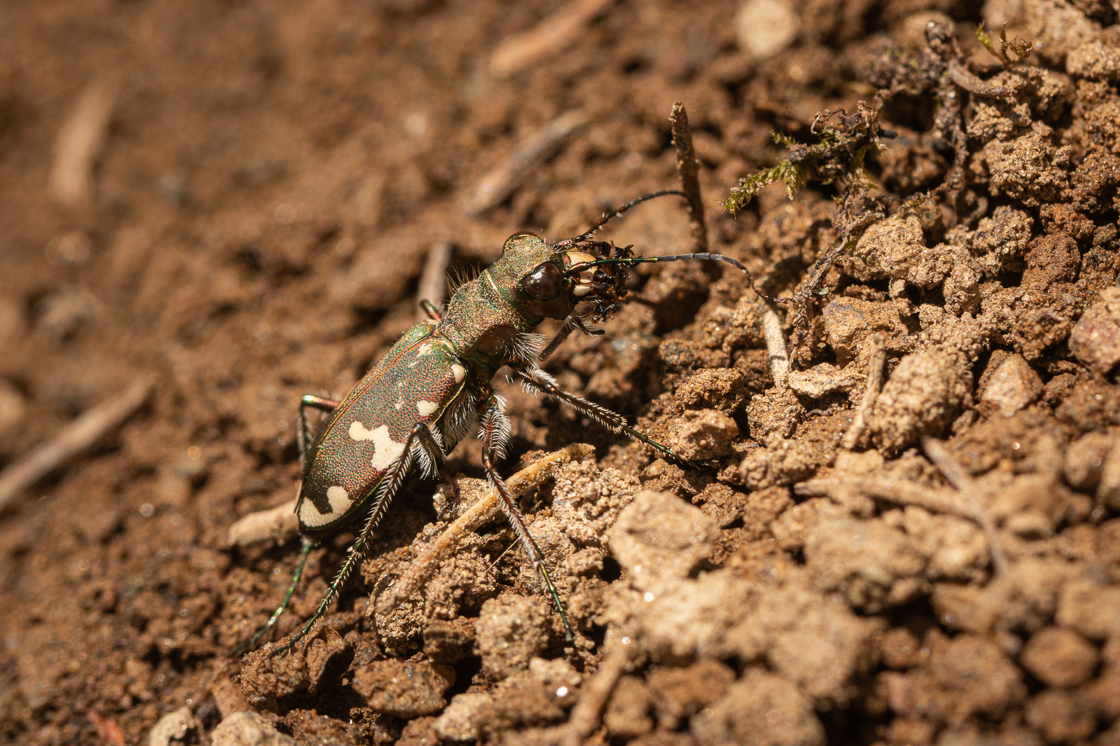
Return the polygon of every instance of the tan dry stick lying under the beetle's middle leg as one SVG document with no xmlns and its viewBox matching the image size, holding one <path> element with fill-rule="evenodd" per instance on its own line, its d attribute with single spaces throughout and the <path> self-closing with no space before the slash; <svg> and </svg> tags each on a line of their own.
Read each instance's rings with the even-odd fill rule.
<svg viewBox="0 0 1120 746">
<path fill-rule="evenodd" d="M 572 443 L 529 464 L 506 480 L 506 485 L 514 498 L 520 498 L 543 484 L 561 465 L 569 461 L 586 459 L 594 453 L 594 446 Z M 370 605 L 367 613 L 372 614 L 376 611 L 379 614 L 389 614 L 403 604 L 436 573 L 439 561 L 451 551 L 463 535 L 467 531 L 474 531 L 500 516 L 502 516 L 502 508 L 498 503 L 497 490 L 491 489 L 428 545 L 423 553 L 396 579 L 396 584 L 385 589 L 377 598 L 376 604 Z"/>
</svg>

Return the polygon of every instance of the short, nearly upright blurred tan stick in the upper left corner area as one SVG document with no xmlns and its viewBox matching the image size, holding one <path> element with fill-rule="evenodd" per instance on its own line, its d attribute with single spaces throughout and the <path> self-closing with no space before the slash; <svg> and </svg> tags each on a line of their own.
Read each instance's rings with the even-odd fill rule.
<svg viewBox="0 0 1120 746">
<path fill-rule="evenodd" d="M 58 132 L 50 169 L 50 192 L 58 202 L 78 206 L 92 198 L 93 167 L 105 144 L 115 97 L 109 83 L 91 83 Z"/>
</svg>

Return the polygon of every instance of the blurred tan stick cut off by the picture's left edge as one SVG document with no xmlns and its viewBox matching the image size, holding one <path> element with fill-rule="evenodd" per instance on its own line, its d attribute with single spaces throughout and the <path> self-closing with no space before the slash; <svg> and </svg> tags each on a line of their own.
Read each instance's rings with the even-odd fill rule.
<svg viewBox="0 0 1120 746">
<path fill-rule="evenodd" d="M 0 473 L 0 510 L 24 490 L 78 455 L 140 408 L 153 381 L 144 377 L 118 396 L 84 412 L 49 442 Z"/>
</svg>

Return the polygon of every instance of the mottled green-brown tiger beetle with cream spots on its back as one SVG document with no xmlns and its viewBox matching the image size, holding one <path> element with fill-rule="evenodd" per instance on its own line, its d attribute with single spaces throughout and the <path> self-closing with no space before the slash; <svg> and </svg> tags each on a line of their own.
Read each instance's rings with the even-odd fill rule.
<svg viewBox="0 0 1120 746">
<path fill-rule="evenodd" d="M 413 465 L 433 475 L 439 461 L 477 427 L 483 468 L 497 490 L 501 506 L 522 549 L 556 605 L 567 640 L 572 640 L 568 613 L 544 566 L 544 553 L 530 535 L 516 501 L 495 463 L 505 455 L 510 421 L 505 399 L 491 387 L 498 369 L 508 367 L 534 396 L 554 397 L 615 433 L 625 433 L 661 456 L 685 466 L 693 462 L 643 435 L 614 412 L 562 390 L 538 365 L 572 330 L 603 333 L 585 318 L 609 321 L 626 296 L 627 267 L 644 263 L 715 259 L 749 272 L 721 254 L 635 256 L 631 247 L 592 240 L 608 220 L 666 189 L 638 197 L 606 214 L 587 233 L 549 244 L 529 233 L 506 239 L 502 256 L 476 278 L 460 285 L 441 314 L 430 302 L 421 306 L 429 320 L 410 329 L 342 402 L 305 396 L 299 404 L 299 448 L 302 482 L 296 514 L 301 550 L 291 584 L 269 621 L 239 651 L 251 648 L 276 625 L 299 584 L 307 555 L 318 539 L 364 517 L 342 568 L 326 596 L 299 632 L 273 652 L 290 649 L 323 617 L 343 583 L 366 551 L 373 529 L 385 514 Z M 752 281 L 752 287 L 754 283 Z M 591 306 L 577 312 L 580 303 Z M 586 306 L 585 306 L 586 308 Z M 589 312 L 588 312 L 589 311 Z M 533 332 L 545 319 L 563 321 L 551 343 Z M 307 410 L 329 415 L 311 437 Z"/>
</svg>

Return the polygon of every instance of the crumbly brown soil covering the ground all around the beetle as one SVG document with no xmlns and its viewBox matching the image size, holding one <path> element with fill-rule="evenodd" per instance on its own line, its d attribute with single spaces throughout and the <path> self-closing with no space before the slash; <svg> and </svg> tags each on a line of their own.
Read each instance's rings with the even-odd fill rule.
<svg viewBox="0 0 1120 746">
<path fill-rule="evenodd" d="M 0 465 L 155 387 L 0 507 L 0 739 L 1120 744 L 1118 10 L 4 3 Z M 981 21 L 1034 54 L 1000 60 Z M 881 102 L 883 199 L 847 217 L 881 215 L 800 319 L 730 267 L 643 267 L 606 334 L 548 363 L 711 468 L 503 385 L 506 474 L 596 447 L 524 499 L 575 643 L 502 521 L 370 613 L 484 491 L 468 442 L 392 506 L 309 641 L 232 655 L 293 569 L 290 535 L 228 529 L 295 495 L 300 395 L 345 394 L 414 323 L 438 247 L 469 273 L 516 230 L 563 238 L 676 187 L 676 101 L 710 246 L 766 292 L 794 292 L 848 209 L 843 178 L 720 209 L 787 155 L 773 131 L 816 142 L 818 112 Z M 691 247 L 675 199 L 604 235 Z M 311 553 L 277 639 L 352 539 Z"/>
</svg>

